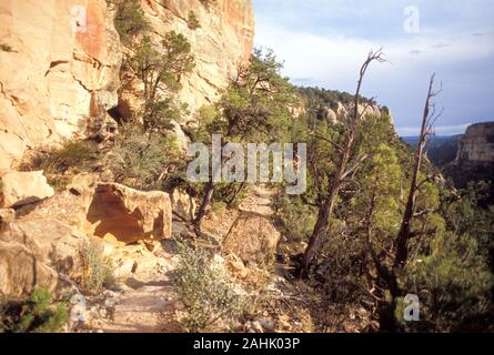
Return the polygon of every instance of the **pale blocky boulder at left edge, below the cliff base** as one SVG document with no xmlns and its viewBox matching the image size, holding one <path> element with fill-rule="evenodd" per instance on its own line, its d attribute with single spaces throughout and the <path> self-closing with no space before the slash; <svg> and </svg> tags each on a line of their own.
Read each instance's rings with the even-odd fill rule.
<svg viewBox="0 0 494 355">
<path fill-rule="evenodd" d="M 42 171 L 0 172 L 0 207 L 18 207 L 53 196 Z"/>
</svg>

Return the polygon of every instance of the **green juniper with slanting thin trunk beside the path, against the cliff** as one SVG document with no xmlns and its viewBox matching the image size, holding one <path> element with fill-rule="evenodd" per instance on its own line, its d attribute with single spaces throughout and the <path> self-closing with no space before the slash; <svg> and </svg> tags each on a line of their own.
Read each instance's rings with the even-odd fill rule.
<svg viewBox="0 0 494 355">
<path fill-rule="evenodd" d="M 290 106 L 296 99 L 288 78 L 280 74 L 281 69 L 272 51 L 255 50 L 250 63 L 240 65 L 213 114 L 198 130 L 203 142 L 210 134 L 220 134 L 223 146 L 229 142 L 283 142 L 292 119 Z M 223 156 L 222 163 L 225 160 Z M 212 172 L 212 176 L 218 173 Z M 198 231 L 213 197 L 212 176 L 194 221 Z"/>
</svg>

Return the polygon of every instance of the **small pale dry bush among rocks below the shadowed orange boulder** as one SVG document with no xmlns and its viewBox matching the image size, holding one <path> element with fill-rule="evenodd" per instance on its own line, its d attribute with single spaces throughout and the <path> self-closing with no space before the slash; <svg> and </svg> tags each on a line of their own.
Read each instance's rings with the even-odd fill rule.
<svg viewBox="0 0 494 355">
<path fill-rule="evenodd" d="M 114 282 L 111 263 L 103 256 L 102 248 L 93 242 L 87 242 L 80 250 L 82 263 L 81 288 L 87 293 L 97 293 L 103 286 Z"/>
</svg>

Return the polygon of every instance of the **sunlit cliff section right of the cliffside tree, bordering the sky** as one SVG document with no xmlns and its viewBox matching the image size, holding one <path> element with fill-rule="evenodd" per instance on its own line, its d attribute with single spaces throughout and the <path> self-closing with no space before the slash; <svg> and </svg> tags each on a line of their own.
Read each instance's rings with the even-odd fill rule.
<svg viewBox="0 0 494 355">
<path fill-rule="evenodd" d="M 175 31 L 191 43 L 195 69 L 182 79 L 180 100 L 192 114 L 214 102 L 238 65 L 250 59 L 254 38 L 250 0 L 148 0 L 142 8 L 159 37 Z M 192 13 L 199 28 L 189 23 Z"/>
</svg>

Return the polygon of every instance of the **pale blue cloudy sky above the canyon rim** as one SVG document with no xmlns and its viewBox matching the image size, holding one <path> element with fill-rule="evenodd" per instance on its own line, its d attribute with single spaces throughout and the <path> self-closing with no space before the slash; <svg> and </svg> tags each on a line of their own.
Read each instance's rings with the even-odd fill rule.
<svg viewBox="0 0 494 355">
<path fill-rule="evenodd" d="M 253 0 L 255 45 L 274 50 L 292 83 L 354 92 L 387 105 L 401 135 L 415 135 L 436 73 L 436 134 L 494 121 L 494 0 Z"/>
</svg>

